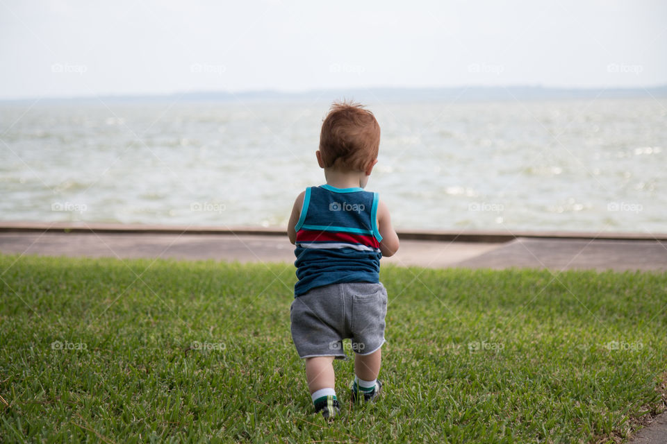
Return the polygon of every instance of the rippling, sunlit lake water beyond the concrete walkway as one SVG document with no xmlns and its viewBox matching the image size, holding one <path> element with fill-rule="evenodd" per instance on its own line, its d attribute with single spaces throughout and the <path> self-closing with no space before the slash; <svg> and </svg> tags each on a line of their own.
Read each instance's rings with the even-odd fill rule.
<svg viewBox="0 0 667 444">
<path fill-rule="evenodd" d="M 370 103 L 404 230 L 667 232 L 667 100 Z M 283 228 L 327 103 L 0 106 L 0 219 Z"/>
</svg>

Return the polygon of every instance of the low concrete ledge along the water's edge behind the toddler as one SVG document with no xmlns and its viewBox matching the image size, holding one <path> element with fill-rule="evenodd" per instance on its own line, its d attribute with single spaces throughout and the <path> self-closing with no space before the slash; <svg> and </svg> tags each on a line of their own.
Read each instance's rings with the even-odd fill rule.
<svg viewBox="0 0 667 444">
<path fill-rule="evenodd" d="M 141 225 L 120 223 L 69 223 L 0 221 L 0 232 L 73 232 L 73 233 L 121 233 L 121 234 L 230 234 L 286 236 L 286 230 L 263 227 L 220 227 L 197 225 Z M 667 241 L 667 233 L 639 232 L 569 232 L 569 231 L 493 231 L 466 230 L 400 230 L 400 239 L 420 241 L 457 241 L 503 243 L 517 238 L 532 239 L 605 239 L 634 241 Z"/>
</svg>

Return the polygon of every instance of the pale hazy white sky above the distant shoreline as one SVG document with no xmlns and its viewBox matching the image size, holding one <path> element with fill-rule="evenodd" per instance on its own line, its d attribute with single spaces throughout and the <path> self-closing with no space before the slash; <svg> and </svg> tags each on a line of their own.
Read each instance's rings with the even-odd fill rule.
<svg viewBox="0 0 667 444">
<path fill-rule="evenodd" d="M 667 83 L 667 2 L 0 0 L 0 99 Z"/>
</svg>

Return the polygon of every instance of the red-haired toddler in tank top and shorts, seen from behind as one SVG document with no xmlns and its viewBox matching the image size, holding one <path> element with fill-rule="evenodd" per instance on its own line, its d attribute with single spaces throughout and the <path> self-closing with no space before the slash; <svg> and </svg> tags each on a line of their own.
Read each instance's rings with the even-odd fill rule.
<svg viewBox="0 0 667 444">
<path fill-rule="evenodd" d="M 290 307 L 291 331 L 315 412 L 340 414 L 334 359 L 345 359 L 352 339 L 352 400 L 372 401 L 384 344 L 387 292 L 379 282 L 380 258 L 398 250 L 386 205 L 365 191 L 377 163 L 380 127 L 356 103 L 334 103 L 322 123 L 315 152 L 327 183 L 309 187 L 294 203 L 288 236 L 295 244 L 297 284 Z"/>
</svg>

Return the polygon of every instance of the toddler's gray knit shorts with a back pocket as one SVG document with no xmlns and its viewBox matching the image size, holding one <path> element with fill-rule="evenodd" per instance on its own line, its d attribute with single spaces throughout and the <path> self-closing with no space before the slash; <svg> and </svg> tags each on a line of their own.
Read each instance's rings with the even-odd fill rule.
<svg viewBox="0 0 667 444">
<path fill-rule="evenodd" d="M 292 340 L 299 357 L 345 359 L 343 339 L 357 355 L 370 355 L 386 341 L 387 291 L 381 283 L 354 282 L 318 287 L 290 307 Z"/>
</svg>

